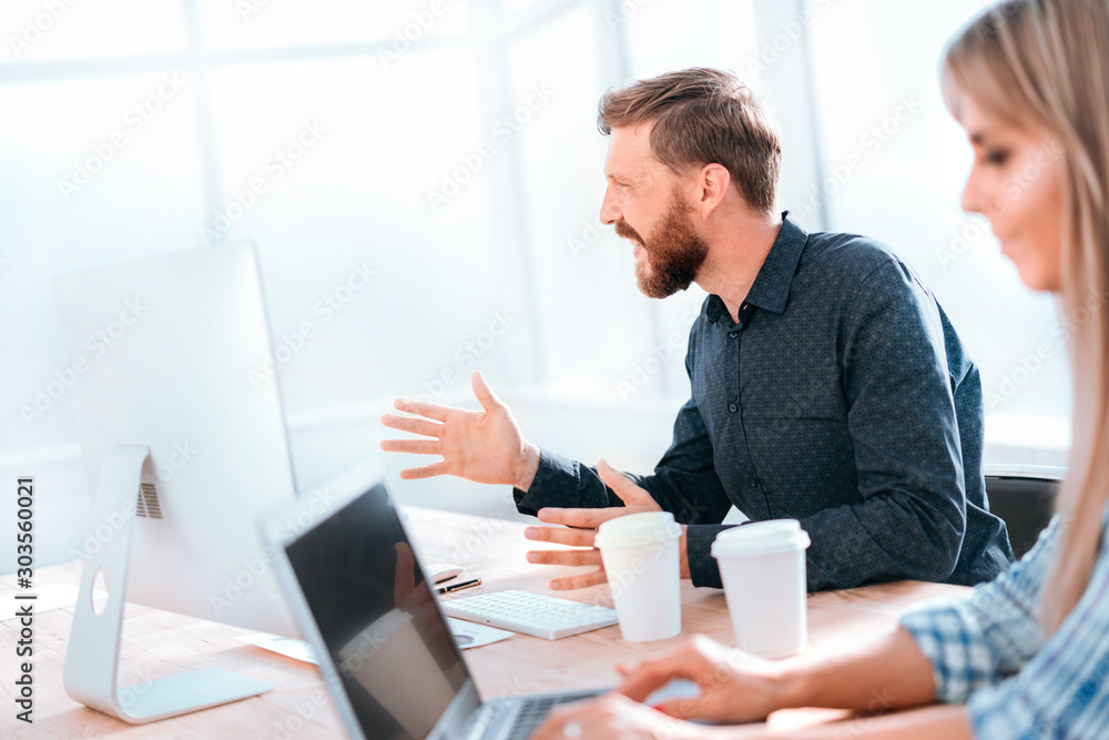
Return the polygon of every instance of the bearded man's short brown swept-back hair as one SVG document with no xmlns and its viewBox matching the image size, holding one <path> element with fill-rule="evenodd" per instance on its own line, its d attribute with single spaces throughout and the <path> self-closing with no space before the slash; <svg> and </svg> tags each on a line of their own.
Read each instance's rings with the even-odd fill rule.
<svg viewBox="0 0 1109 740">
<path fill-rule="evenodd" d="M 652 122 L 651 149 L 678 174 L 721 164 L 747 204 L 774 211 L 782 148 L 777 124 L 730 72 L 695 67 L 638 80 L 601 97 L 597 128 Z"/>
</svg>

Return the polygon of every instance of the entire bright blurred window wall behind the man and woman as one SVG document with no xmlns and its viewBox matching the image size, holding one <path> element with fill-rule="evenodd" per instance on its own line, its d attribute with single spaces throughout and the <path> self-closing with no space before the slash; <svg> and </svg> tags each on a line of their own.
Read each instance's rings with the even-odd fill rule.
<svg viewBox="0 0 1109 740">
<path fill-rule="evenodd" d="M 650 470 L 704 294 L 637 291 L 597 216 L 594 116 L 607 88 L 693 65 L 776 110 L 783 209 L 886 242 L 934 290 L 981 368 L 987 464 L 1064 464 L 1055 305 L 960 212 L 970 151 L 937 83 L 945 40 L 984 4 L 7 0 L 0 480 L 37 479 L 37 564 L 68 559 L 90 517 L 68 394 L 28 413 L 67 366 L 53 276 L 223 240 L 258 245 L 276 345 L 319 330 L 279 372 L 302 487 L 379 454 L 394 397 L 474 406 L 475 369 L 532 442 Z M 342 290 L 356 268 L 369 284 Z M 515 510 L 500 487 L 394 487 Z"/>
</svg>

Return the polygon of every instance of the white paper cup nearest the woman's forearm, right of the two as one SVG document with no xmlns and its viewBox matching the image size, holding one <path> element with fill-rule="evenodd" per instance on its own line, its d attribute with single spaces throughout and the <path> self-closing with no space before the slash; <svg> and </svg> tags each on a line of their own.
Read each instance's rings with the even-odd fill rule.
<svg viewBox="0 0 1109 740">
<path fill-rule="evenodd" d="M 716 535 L 712 557 L 720 566 L 741 650 L 784 658 L 807 641 L 805 549 L 810 543 L 796 519 L 755 521 Z"/>
</svg>

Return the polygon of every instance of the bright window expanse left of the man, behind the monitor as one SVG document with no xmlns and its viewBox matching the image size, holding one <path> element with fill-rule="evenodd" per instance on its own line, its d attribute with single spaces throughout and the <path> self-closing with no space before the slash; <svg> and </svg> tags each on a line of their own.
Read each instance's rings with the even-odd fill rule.
<svg viewBox="0 0 1109 740">
<path fill-rule="evenodd" d="M 602 402 L 682 395 L 702 295 L 659 304 L 603 227 L 608 87 L 737 69 L 752 8 L 647 0 L 17 3 L 0 30 L 0 301 L 11 394 L 0 445 L 69 444 L 50 282 L 68 270 L 253 239 L 287 407 L 452 399 L 469 373 Z M 705 22 L 712 19 L 712 23 Z M 660 36 L 672 34 L 665 44 Z M 375 273 L 315 311 L 353 264 Z M 676 357 L 676 359 L 675 359 Z M 30 412 L 28 410 L 30 409 Z M 368 413 L 368 412 L 367 412 Z"/>
</svg>

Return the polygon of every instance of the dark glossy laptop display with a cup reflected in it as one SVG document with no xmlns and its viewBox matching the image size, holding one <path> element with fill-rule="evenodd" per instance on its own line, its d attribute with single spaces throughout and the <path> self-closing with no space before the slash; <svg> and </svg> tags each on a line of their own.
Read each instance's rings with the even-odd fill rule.
<svg viewBox="0 0 1109 740">
<path fill-rule="evenodd" d="M 385 487 L 285 549 L 363 732 L 426 738 L 469 676 Z"/>
</svg>

